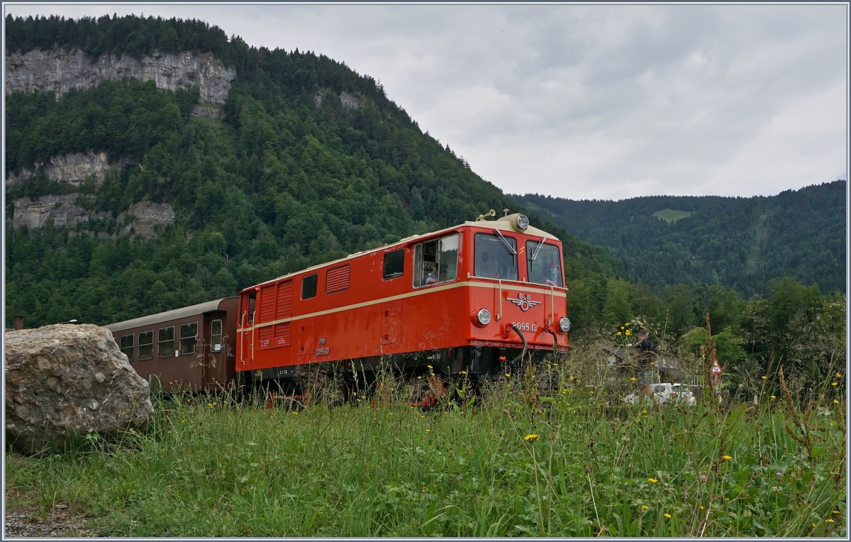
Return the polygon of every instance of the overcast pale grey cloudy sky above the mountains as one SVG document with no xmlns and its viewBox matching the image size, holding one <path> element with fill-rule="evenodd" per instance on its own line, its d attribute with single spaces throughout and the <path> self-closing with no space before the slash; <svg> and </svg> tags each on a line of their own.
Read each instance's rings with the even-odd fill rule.
<svg viewBox="0 0 851 542">
<path fill-rule="evenodd" d="M 511 193 L 773 195 L 847 179 L 835 5 L 4 5 L 194 18 L 375 77 Z"/>
</svg>

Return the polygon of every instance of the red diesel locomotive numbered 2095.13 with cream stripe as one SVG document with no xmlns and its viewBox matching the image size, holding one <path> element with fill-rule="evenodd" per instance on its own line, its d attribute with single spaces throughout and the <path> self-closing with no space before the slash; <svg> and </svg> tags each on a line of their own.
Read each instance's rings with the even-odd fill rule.
<svg viewBox="0 0 851 542">
<path fill-rule="evenodd" d="M 244 289 L 237 373 L 292 389 L 306 367 L 369 380 L 383 364 L 480 383 L 527 350 L 567 347 L 562 243 L 505 214 Z"/>
</svg>

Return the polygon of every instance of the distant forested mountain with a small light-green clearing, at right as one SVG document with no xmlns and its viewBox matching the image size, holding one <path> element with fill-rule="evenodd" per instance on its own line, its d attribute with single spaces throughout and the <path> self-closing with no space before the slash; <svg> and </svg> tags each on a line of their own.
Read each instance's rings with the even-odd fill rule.
<svg viewBox="0 0 851 542">
<path fill-rule="evenodd" d="M 511 198 L 608 248 L 651 287 L 705 282 L 750 297 L 779 277 L 845 292 L 845 196 L 837 180 L 773 197 Z"/>
</svg>

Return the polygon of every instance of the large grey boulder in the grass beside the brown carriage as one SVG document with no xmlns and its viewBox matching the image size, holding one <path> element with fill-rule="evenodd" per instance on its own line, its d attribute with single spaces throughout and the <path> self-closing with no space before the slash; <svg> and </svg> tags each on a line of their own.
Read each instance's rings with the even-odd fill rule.
<svg viewBox="0 0 851 542">
<path fill-rule="evenodd" d="M 151 390 L 112 334 L 92 324 L 6 333 L 6 441 L 25 453 L 75 434 L 141 429 Z"/>
</svg>

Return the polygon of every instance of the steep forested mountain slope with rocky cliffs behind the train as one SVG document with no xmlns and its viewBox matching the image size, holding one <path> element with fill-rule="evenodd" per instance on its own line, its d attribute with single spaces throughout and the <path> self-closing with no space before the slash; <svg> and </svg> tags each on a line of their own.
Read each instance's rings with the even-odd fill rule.
<svg viewBox="0 0 851 542">
<path fill-rule="evenodd" d="M 7 325 L 16 314 L 28 327 L 139 317 L 489 208 L 522 210 L 423 134 L 373 78 L 328 57 L 249 48 L 201 21 L 5 24 L 9 54 L 190 51 L 237 73 L 224 106 L 205 116 L 193 113 L 197 87 L 135 79 L 7 95 Z M 84 179 L 56 173 L 100 157 L 104 168 Z M 142 228 L 151 206 L 159 221 Z M 568 277 L 625 277 L 603 248 L 530 219 L 563 239 Z"/>
</svg>

